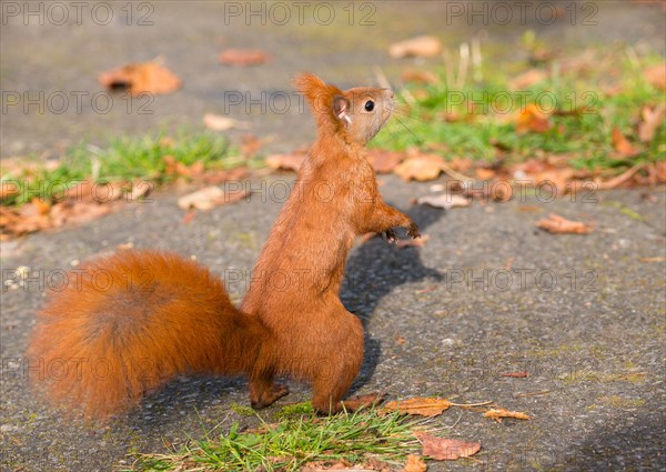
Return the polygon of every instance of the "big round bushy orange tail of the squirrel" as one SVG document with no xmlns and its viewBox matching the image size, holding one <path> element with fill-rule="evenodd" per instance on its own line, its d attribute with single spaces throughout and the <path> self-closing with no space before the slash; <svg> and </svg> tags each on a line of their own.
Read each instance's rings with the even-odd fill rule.
<svg viewBox="0 0 666 472">
<path fill-rule="evenodd" d="M 208 269 L 121 251 L 70 271 L 51 293 L 30 342 L 30 376 L 51 402 L 104 418 L 181 373 L 246 371 L 263 337 Z"/>
</svg>

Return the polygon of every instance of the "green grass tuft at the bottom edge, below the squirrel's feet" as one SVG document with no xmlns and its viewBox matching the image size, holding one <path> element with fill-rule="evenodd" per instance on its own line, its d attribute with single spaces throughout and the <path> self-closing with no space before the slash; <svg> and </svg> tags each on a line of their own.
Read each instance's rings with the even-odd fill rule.
<svg viewBox="0 0 666 472">
<path fill-rule="evenodd" d="M 258 429 L 241 431 L 234 423 L 228 434 L 204 431 L 204 439 L 178 451 L 140 454 L 129 470 L 296 471 L 312 461 L 370 459 L 397 464 L 418 449 L 412 430 L 423 423 L 397 413 L 380 415 L 375 409 L 316 418 L 307 404 L 290 406 L 278 424 L 258 418 Z"/>
</svg>

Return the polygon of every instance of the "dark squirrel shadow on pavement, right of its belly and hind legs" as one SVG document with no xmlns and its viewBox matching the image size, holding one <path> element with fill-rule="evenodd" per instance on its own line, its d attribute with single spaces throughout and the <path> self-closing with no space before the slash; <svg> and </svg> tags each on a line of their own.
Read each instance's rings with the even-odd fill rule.
<svg viewBox="0 0 666 472">
<path fill-rule="evenodd" d="M 414 207 L 407 214 L 418 224 L 421 234 L 424 234 L 426 228 L 442 218 L 444 212 L 430 207 Z M 401 239 L 406 238 L 404 232 L 397 231 Z M 346 263 L 340 298 L 345 308 L 361 319 L 365 328 L 383 297 L 403 283 L 427 278 L 441 280 L 442 274 L 423 264 L 416 248 L 398 249 L 389 244 L 384 238 L 375 238 L 352 252 Z M 381 354 L 380 341 L 370 338 L 366 329 L 363 364 L 350 394 L 372 378 Z"/>
</svg>

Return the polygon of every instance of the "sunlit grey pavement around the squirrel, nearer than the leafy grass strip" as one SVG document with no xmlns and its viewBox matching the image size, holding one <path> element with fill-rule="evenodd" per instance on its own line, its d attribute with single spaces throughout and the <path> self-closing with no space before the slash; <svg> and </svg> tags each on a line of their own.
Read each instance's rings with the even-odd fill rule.
<svg viewBox="0 0 666 472">
<path fill-rule="evenodd" d="M 382 180 L 387 199 L 412 214 L 430 240 L 404 250 L 373 240 L 351 254 L 342 298 L 367 332 L 356 392 L 494 400 L 533 415 L 496 424 L 475 412 L 446 412 L 434 424 L 481 441 L 482 462 L 432 470 L 664 469 L 663 189 L 444 212 L 408 205 L 427 185 Z M 266 189 L 283 184 L 279 177 L 266 182 Z M 656 201 L 647 201 L 646 192 Z M 4 243 L 3 270 L 27 265 L 48 280 L 73 260 L 133 242 L 196 255 L 216 273 L 231 279 L 241 271 L 248 281 L 281 207 L 266 194 L 200 213 L 189 224 L 174 197 L 129 204 L 83 228 Z M 535 229 L 549 212 L 592 221 L 595 231 L 552 235 Z M 229 285 L 234 300 L 244 285 Z M 27 337 L 42 303 L 34 283 L 2 297 L 6 470 L 108 470 L 128 451 L 157 452 L 196 435 L 201 423 L 249 421 L 230 409 L 248 403 L 245 383 L 233 379 L 173 382 L 109 428 L 63 420 L 33 398 L 23 375 Z M 501 376 L 515 371 L 529 376 Z M 539 392 L 547 393 L 522 395 Z M 289 401 L 305 399 L 307 389 L 296 388 Z"/>
</svg>

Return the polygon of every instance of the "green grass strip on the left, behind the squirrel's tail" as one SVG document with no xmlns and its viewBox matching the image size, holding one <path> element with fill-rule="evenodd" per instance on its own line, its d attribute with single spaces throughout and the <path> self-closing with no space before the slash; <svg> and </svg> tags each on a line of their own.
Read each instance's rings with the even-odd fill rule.
<svg viewBox="0 0 666 472">
<path fill-rule="evenodd" d="M 258 164 L 231 148 L 224 137 L 212 132 L 180 130 L 173 134 L 122 137 L 104 148 L 80 143 L 67 150 L 54 169 L 34 162 L 21 170 L 3 171 L 2 185 L 17 185 L 18 192 L 3 199 L 2 204 L 20 205 L 33 198 L 50 202 L 84 179 L 98 183 L 151 181 L 160 187 L 176 178 L 168 173 L 165 155 L 188 167 L 201 162 L 205 170 Z"/>
</svg>

